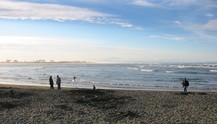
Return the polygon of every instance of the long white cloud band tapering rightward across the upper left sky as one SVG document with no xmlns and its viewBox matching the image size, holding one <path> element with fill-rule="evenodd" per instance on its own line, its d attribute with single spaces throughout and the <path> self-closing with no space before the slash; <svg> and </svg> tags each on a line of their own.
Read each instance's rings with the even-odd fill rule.
<svg viewBox="0 0 217 124">
<path fill-rule="evenodd" d="M 31 2 L 15 2 L 3 0 L 0 2 L 0 18 L 2 19 L 32 19 L 55 21 L 86 21 L 99 24 L 116 24 L 122 27 L 132 27 L 125 21 L 114 22 L 114 15 L 80 7 L 39 4 Z M 118 20 L 118 19 L 116 19 Z"/>
</svg>

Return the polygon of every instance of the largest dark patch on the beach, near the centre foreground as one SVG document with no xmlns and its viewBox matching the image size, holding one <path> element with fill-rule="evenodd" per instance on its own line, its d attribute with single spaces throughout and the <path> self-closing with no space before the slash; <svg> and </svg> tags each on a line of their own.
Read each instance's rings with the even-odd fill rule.
<svg viewBox="0 0 217 124">
<path fill-rule="evenodd" d="M 110 110 L 108 112 L 108 121 L 117 122 L 124 118 L 140 117 L 137 112 L 126 110 L 124 106 L 134 99 L 130 96 L 114 95 L 114 91 L 109 90 L 72 90 L 71 94 L 75 95 L 76 103 L 91 107 L 96 107 L 100 110 Z"/>
</svg>

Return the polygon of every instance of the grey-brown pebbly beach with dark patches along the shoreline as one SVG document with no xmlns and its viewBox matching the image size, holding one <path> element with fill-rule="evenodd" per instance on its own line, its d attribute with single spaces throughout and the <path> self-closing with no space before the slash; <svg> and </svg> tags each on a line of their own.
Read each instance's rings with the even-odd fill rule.
<svg viewBox="0 0 217 124">
<path fill-rule="evenodd" d="M 50 90 L 0 85 L 0 121 L 11 123 L 217 123 L 217 93 Z"/>
</svg>

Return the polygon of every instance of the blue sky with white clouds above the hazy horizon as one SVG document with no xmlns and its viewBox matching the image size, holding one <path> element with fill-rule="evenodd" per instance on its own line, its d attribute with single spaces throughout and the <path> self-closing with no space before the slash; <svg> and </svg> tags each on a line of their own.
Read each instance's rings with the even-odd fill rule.
<svg viewBox="0 0 217 124">
<path fill-rule="evenodd" d="M 217 0 L 1 0 L 0 61 L 217 62 Z"/>
</svg>

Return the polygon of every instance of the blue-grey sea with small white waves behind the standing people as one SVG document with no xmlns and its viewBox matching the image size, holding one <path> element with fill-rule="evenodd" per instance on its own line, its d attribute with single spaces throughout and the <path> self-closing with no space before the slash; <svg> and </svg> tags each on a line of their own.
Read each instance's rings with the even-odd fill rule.
<svg viewBox="0 0 217 124">
<path fill-rule="evenodd" d="M 217 63 L 0 64 L 1 83 L 49 86 L 49 77 L 55 82 L 56 75 L 62 86 L 74 88 L 182 90 L 182 80 L 187 78 L 189 90 L 217 91 Z"/>
</svg>

